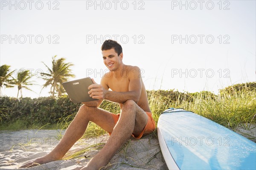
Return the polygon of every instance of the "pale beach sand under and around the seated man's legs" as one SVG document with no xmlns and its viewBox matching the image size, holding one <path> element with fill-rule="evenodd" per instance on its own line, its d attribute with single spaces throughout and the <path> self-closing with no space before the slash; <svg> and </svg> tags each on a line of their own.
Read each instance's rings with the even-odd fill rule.
<svg viewBox="0 0 256 170">
<path fill-rule="evenodd" d="M 60 130 L 20 130 L 0 131 L 0 169 L 17 169 L 27 161 L 49 153 L 58 144 Z M 81 139 L 64 157 L 87 149 L 72 159 L 53 161 L 29 170 L 79 170 L 99 152 L 108 140 L 108 135 L 97 138 Z M 102 144 L 101 144 L 102 143 Z M 26 168 L 21 168 L 26 169 Z M 107 170 L 165 170 L 168 169 L 155 136 L 140 140 L 129 140 L 118 150 L 106 167 Z"/>
</svg>

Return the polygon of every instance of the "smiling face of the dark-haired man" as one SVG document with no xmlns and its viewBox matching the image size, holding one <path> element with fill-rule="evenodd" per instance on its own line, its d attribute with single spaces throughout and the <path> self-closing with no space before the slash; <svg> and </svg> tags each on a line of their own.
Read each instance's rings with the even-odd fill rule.
<svg viewBox="0 0 256 170">
<path fill-rule="evenodd" d="M 109 50 L 102 51 L 103 61 L 109 71 L 114 71 L 119 68 L 122 61 L 122 53 L 118 56 L 115 49 L 111 48 Z"/>
</svg>

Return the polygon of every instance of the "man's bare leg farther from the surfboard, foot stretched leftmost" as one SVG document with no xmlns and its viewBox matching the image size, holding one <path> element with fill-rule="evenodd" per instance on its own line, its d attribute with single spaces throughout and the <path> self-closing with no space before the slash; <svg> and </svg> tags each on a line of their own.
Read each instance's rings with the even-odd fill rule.
<svg viewBox="0 0 256 170">
<path fill-rule="evenodd" d="M 24 164 L 21 167 L 31 167 L 62 159 L 73 144 L 83 136 L 89 121 L 95 122 L 108 132 L 112 132 L 115 126 L 110 112 L 82 105 L 59 144 L 46 156 L 35 159 L 35 161 Z"/>
</svg>

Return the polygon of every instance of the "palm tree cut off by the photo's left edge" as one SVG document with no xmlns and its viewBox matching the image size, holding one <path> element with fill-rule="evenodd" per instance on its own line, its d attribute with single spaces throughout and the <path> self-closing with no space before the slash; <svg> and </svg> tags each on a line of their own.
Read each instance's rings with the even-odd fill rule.
<svg viewBox="0 0 256 170">
<path fill-rule="evenodd" d="M 13 87 L 13 85 L 11 85 L 11 82 L 13 80 L 12 73 L 14 71 L 11 71 L 8 73 L 10 67 L 11 67 L 10 65 L 6 65 L 6 64 L 0 66 L 0 94 L 1 94 L 1 88 L 3 87 L 3 85 L 6 88 Z"/>
</svg>

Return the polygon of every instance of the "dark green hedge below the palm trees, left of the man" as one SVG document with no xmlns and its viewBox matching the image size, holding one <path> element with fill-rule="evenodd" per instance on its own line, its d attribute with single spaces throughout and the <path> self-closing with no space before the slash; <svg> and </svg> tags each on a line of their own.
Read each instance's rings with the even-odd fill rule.
<svg viewBox="0 0 256 170">
<path fill-rule="evenodd" d="M 38 99 L 0 97 L 0 121 L 3 125 L 22 121 L 24 125 L 57 123 L 60 119 L 74 114 L 81 104 L 74 104 L 67 96 L 54 99 L 39 97 Z"/>
</svg>

